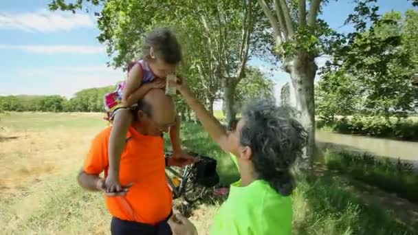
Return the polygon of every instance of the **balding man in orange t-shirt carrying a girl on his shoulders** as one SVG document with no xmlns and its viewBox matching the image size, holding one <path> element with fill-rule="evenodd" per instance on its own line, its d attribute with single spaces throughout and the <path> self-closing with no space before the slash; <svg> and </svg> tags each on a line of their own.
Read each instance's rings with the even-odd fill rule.
<svg viewBox="0 0 418 235">
<path fill-rule="evenodd" d="M 111 127 L 93 140 L 78 183 L 87 190 L 104 192 L 107 209 L 113 216 L 112 234 L 171 234 L 167 220 L 173 194 L 166 181 L 164 139 L 162 134 L 176 122 L 174 102 L 161 89 L 149 91 L 135 110 L 135 121 L 126 135 L 120 158 L 120 183 L 123 190 L 108 193 L 104 172 L 109 168 L 108 144 Z M 191 157 L 180 153 L 168 159 L 170 166 L 185 166 Z"/>
</svg>

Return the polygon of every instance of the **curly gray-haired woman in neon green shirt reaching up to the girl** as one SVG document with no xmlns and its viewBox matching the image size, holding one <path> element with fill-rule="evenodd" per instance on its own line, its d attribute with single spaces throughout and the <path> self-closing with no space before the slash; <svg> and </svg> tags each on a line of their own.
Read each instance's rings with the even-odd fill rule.
<svg viewBox="0 0 418 235">
<path fill-rule="evenodd" d="M 248 105 L 229 133 L 206 111 L 184 84 L 173 84 L 195 111 L 203 128 L 239 168 L 210 234 L 291 234 L 294 179 L 290 168 L 302 153 L 307 134 L 287 109 L 272 101 Z M 180 214 L 170 219 L 173 234 L 195 235 L 195 225 Z"/>
</svg>

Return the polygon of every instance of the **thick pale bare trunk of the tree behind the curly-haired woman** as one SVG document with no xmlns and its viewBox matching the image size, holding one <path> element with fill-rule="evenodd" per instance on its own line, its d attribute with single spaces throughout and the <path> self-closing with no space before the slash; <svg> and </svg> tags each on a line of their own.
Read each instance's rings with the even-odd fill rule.
<svg viewBox="0 0 418 235">
<path fill-rule="evenodd" d="M 318 67 L 313 56 L 298 54 L 285 66 L 292 78 L 296 93 L 296 108 L 300 111 L 300 124 L 308 133 L 307 147 L 298 168 L 311 168 L 316 151 L 314 79 Z"/>
</svg>

